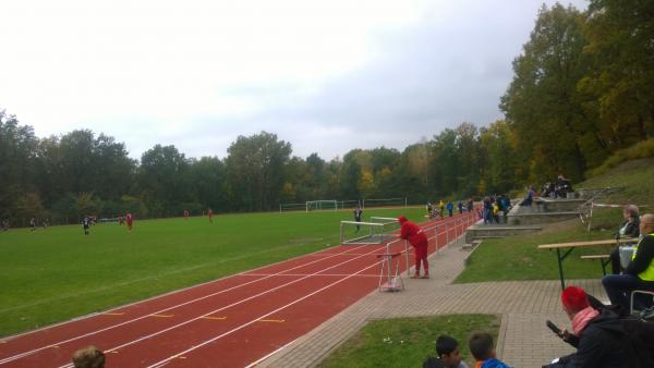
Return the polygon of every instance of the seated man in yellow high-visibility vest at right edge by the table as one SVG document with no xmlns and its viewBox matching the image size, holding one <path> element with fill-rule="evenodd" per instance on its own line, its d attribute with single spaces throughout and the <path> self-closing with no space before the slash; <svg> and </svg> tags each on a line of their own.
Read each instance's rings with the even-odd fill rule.
<svg viewBox="0 0 654 368">
<path fill-rule="evenodd" d="M 654 291 L 654 214 L 645 213 L 642 216 L 640 233 L 644 236 L 635 245 L 631 263 L 625 272 L 622 274 L 608 274 L 602 279 L 602 284 L 610 303 L 623 310 L 629 308 L 629 295 L 632 291 Z M 638 307 L 642 308 L 646 305 L 639 305 Z"/>
</svg>

